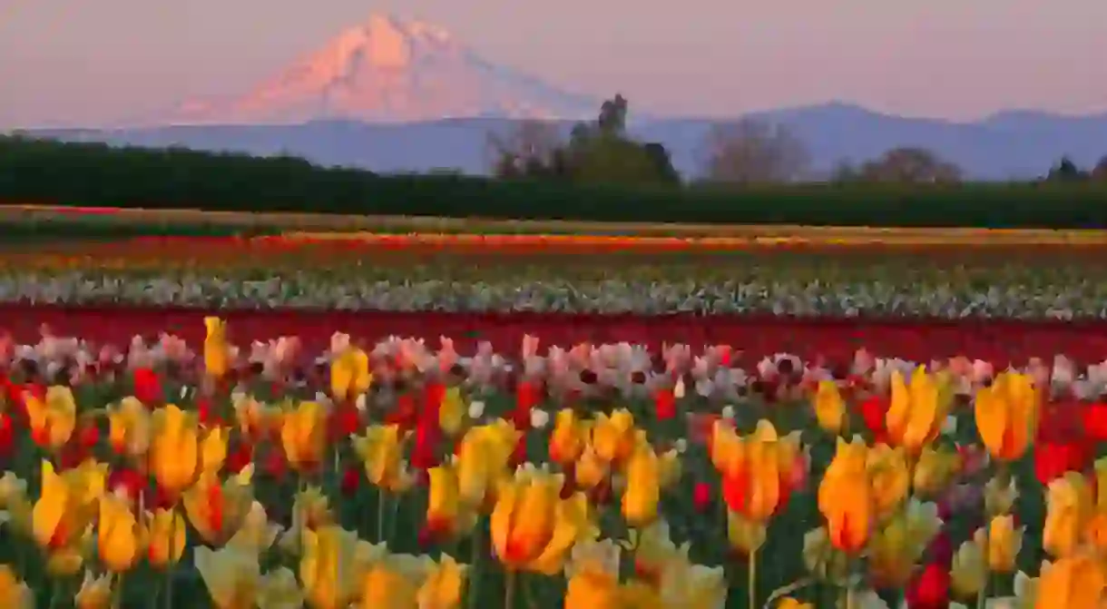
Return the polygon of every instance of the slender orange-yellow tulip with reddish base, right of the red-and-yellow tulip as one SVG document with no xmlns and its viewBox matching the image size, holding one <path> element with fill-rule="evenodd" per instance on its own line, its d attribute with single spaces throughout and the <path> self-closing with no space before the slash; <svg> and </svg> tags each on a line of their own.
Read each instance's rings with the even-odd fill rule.
<svg viewBox="0 0 1107 609">
<path fill-rule="evenodd" d="M 875 522 L 875 499 L 867 471 L 868 447 L 860 437 L 838 438 L 834 460 L 819 483 L 819 512 L 827 520 L 830 543 L 847 554 L 859 553 Z"/>
</svg>

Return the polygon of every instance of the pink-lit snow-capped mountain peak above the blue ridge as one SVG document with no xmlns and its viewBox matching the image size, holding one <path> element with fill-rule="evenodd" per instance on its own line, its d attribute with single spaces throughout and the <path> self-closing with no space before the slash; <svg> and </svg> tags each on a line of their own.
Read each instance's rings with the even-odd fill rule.
<svg viewBox="0 0 1107 609">
<path fill-rule="evenodd" d="M 486 61 L 441 27 L 374 14 L 245 95 L 185 102 L 172 122 L 582 118 L 598 107 L 593 99 Z"/>
</svg>

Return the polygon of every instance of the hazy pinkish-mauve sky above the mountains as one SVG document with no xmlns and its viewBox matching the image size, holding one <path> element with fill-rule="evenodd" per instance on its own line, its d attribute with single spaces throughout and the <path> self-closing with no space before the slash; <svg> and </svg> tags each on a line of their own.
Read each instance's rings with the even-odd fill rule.
<svg viewBox="0 0 1107 609">
<path fill-rule="evenodd" d="M 0 127 L 241 93 L 375 11 L 632 112 L 1107 111 L 1107 0 L 0 0 Z"/>
</svg>

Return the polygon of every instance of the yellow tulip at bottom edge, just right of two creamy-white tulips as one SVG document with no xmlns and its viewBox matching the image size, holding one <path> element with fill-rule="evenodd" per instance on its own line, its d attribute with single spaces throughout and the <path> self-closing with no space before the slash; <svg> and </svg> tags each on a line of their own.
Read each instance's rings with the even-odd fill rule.
<svg viewBox="0 0 1107 609">
<path fill-rule="evenodd" d="M 302 531 L 300 582 L 312 609 L 344 609 L 358 595 L 358 535 L 339 526 Z"/>
</svg>

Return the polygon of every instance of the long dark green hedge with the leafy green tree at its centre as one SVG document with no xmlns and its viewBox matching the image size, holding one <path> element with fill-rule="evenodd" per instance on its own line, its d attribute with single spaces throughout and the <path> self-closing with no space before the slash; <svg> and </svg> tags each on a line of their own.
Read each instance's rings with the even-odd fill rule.
<svg viewBox="0 0 1107 609">
<path fill-rule="evenodd" d="M 602 126 L 598 121 L 576 130 L 576 137 L 570 134 L 563 147 L 555 147 L 541 157 L 541 164 L 514 159 L 503 171 L 516 172 L 510 174 L 518 176 L 515 178 L 376 175 L 321 167 L 297 158 L 0 136 L 0 205 L 617 223 L 1107 226 L 1107 187 L 1083 178 L 925 187 L 894 182 L 795 179 L 783 184 L 749 179 L 742 188 L 717 187 L 711 182 L 677 185 L 679 177 L 663 146 L 635 142 L 621 128 L 612 128 L 625 120 L 623 107 L 624 103 L 608 106 Z M 759 125 L 756 128 L 764 130 Z M 785 132 L 769 128 L 754 133 L 772 138 L 784 137 Z M 723 143 L 734 146 L 731 140 Z M 739 158 L 757 149 L 735 148 Z M 780 157 L 787 154 L 768 158 Z M 546 173 L 535 173 L 538 167 Z M 1063 175 L 1068 175 L 1064 174 L 1067 171 L 1058 169 Z M 621 176 L 623 182 L 613 183 L 611 175 Z"/>
</svg>

